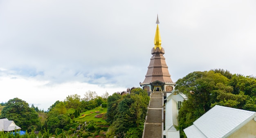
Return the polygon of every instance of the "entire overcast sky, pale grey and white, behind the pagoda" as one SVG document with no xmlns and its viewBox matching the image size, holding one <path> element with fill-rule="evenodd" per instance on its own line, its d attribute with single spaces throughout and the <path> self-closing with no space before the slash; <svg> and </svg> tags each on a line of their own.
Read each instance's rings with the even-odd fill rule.
<svg viewBox="0 0 256 138">
<path fill-rule="evenodd" d="M 193 71 L 256 75 L 255 0 L 0 0 L 0 102 L 47 110 L 68 95 L 139 87 L 157 14 L 174 82 Z"/>
</svg>

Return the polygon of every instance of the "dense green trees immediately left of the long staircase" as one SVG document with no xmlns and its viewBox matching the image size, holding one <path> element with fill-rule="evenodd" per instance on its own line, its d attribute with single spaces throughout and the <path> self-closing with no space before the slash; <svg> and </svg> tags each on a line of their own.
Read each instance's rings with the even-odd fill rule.
<svg viewBox="0 0 256 138">
<path fill-rule="evenodd" d="M 137 134 L 133 133 L 135 131 L 130 128 L 139 128 L 140 124 L 144 123 L 148 102 L 148 93 L 140 88 L 133 89 L 130 95 L 120 96 L 114 93 L 109 96 L 107 121 L 112 122 L 112 125 L 109 127 L 106 136 L 124 138 L 128 132 L 130 137 L 142 136 L 143 128 L 142 131 L 138 129 Z"/>
</svg>

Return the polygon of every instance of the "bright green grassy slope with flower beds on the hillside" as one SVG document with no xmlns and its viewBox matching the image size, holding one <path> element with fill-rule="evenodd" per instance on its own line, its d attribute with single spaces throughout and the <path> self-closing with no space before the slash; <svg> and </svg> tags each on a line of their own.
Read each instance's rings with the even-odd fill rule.
<svg viewBox="0 0 256 138">
<path fill-rule="evenodd" d="M 102 110 L 103 109 L 103 110 Z M 90 114 L 91 112 L 94 112 L 94 111 L 100 111 L 100 113 L 93 113 L 93 114 Z M 107 107 L 105 108 L 102 108 L 102 107 L 96 107 L 92 110 L 88 110 L 88 111 L 85 111 L 83 113 L 80 113 L 80 116 L 78 116 L 77 118 L 74 118 L 74 120 L 76 121 L 90 121 L 90 120 L 94 120 L 94 121 L 101 121 L 101 122 L 106 122 L 106 120 L 104 120 L 103 118 L 95 118 L 94 116 L 96 116 L 97 114 L 101 114 L 101 113 L 105 113 L 107 111 Z M 81 117 L 83 114 L 90 114 L 89 116 L 85 116 L 84 118 L 79 118 Z"/>
</svg>

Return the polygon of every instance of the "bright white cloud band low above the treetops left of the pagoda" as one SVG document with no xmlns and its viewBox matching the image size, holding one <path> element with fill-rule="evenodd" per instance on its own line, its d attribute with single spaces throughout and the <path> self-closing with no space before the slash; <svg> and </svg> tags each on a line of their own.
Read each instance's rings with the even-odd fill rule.
<svg viewBox="0 0 256 138">
<path fill-rule="evenodd" d="M 38 81 L 34 78 L 23 76 L 0 77 L 0 91 L 3 96 L 0 102 L 7 102 L 13 98 L 25 100 L 31 106 L 47 110 L 57 100 L 63 101 L 67 96 L 78 94 L 81 98 L 87 91 L 95 91 L 102 96 L 106 91 L 112 95 L 117 91 L 125 91 L 126 88 L 116 85 L 92 85 L 84 82 L 66 82 L 62 84 L 49 85 L 48 81 Z"/>
</svg>

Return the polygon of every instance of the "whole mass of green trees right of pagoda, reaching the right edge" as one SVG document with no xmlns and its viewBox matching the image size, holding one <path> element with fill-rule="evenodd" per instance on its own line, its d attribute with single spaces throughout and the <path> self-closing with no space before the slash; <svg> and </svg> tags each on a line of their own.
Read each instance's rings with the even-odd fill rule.
<svg viewBox="0 0 256 138">
<path fill-rule="evenodd" d="M 178 116 L 181 138 L 184 128 L 215 105 L 256 111 L 256 79 L 252 76 L 232 75 L 223 69 L 195 71 L 177 80 L 175 89 L 188 97 Z"/>
</svg>

